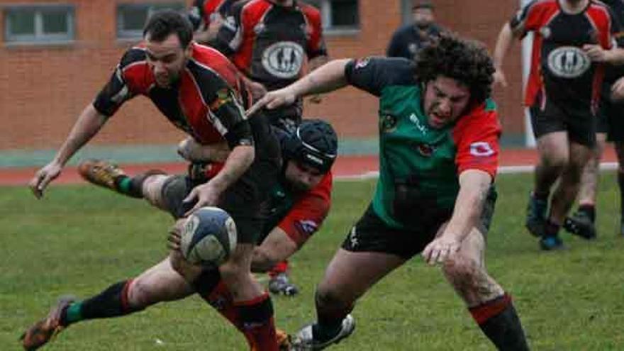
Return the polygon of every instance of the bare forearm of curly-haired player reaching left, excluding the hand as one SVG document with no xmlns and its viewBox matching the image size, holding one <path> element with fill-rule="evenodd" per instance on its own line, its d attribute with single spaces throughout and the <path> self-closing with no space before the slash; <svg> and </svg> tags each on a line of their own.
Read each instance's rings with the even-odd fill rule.
<svg viewBox="0 0 624 351">
<path fill-rule="evenodd" d="M 348 59 L 330 61 L 294 82 L 289 89 L 296 96 L 303 97 L 345 87 L 347 85 L 345 67 L 348 62 Z"/>
</svg>

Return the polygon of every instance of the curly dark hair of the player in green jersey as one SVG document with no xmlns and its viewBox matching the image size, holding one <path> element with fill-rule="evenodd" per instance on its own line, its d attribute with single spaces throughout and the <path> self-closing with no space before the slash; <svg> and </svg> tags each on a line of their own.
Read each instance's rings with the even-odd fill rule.
<svg viewBox="0 0 624 351">
<path fill-rule="evenodd" d="M 477 104 L 489 98 L 494 81 L 494 65 L 485 46 L 452 33 L 442 33 L 418 52 L 416 72 L 423 83 L 441 75 L 465 84 L 471 101 Z"/>
</svg>

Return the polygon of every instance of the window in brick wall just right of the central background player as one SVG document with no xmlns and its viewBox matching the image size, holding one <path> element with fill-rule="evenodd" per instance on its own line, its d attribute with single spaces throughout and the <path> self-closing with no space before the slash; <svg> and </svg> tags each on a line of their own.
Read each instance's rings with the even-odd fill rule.
<svg viewBox="0 0 624 351">
<path fill-rule="evenodd" d="M 328 33 L 360 29 L 357 0 L 306 0 L 321 10 L 323 29 Z"/>
</svg>

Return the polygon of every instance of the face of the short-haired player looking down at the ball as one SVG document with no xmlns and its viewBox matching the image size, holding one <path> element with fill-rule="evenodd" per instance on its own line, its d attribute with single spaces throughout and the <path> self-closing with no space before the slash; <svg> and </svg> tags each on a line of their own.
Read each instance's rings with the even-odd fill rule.
<svg viewBox="0 0 624 351">
<path fill-rule="evenodd" d="M 150 35 L 145 37 L 145 49 L 147 51 L 147 64 L 150 65 L 158 87 L 171 87 L 182 74 L 186 59 L 190 52 L 189 48 L 182 48 L 177 34 L 171 34 L 165 40 L 150 40 Z"/>
</svg>

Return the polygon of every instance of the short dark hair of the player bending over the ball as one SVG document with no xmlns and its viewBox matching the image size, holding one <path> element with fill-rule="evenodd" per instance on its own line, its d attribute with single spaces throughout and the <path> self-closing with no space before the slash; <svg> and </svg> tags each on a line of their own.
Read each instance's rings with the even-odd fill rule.
<svg viewBox="0 0 624 351">
<path fill-rule="evenodd" d="M 193 25 L 182 13 L 173 10 L 157 11 L 145 23 L 143 37 L 150 35 L 150 40 L 162 41 L 175 33 L 182 48 L 186 48 L 193 39 Z"/>
</svg>

